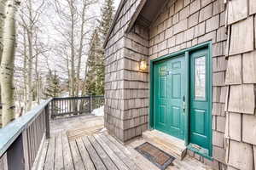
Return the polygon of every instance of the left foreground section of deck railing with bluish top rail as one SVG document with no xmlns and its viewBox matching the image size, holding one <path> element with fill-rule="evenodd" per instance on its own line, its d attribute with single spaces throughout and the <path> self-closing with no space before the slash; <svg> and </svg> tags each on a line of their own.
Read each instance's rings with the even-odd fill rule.
<svg viewBox="0 0 256 170">
<path fill-rule="evenodd" d="M 0 170 L 29 170 L 49 139 L 49 99 L 0 129 Z"/>
</svg>

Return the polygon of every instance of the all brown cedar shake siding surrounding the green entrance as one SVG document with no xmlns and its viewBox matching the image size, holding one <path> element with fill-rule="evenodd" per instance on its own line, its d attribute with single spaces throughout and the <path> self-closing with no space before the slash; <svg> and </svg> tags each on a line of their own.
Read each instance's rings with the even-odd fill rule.
<svg viewBox="0 0 256 170">
<path fill-rule="evenodd" d="M 122 1 L 106 41 L 105 126 L 126 142 L 149 122 L 149 65 L 140 59 L 212 41 L 212 158 L 189 156 L 214 169 L 256 168 L 256 1 Z M 154 2 L 155 3 L 155 2 Z M 154 4 L 156 5 L 156 4 Z M 144 14 L 144 15 L 143 15 Z M 145 21 L 145 14 L 151 20 Z M 154 17 L 152 17 L 154 15 Z"/>
</svg>

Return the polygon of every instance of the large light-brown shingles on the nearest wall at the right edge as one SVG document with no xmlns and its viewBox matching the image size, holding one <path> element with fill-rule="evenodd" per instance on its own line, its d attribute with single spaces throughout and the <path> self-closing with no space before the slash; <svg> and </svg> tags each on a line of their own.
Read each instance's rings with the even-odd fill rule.
<svg viewBox="0 0 256 170">
<path fill-rule="evenodd" d="M 229 95 L 226 132 L 228 169 L 256 169 L 256 1 L 230 0 L 227 8 L 229 29 L 225 83 Z"/>
</svg>

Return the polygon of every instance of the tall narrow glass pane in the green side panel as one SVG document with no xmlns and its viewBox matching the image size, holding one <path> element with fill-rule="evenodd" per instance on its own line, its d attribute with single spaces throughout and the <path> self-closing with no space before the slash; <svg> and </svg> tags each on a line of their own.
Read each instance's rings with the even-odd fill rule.
<svg viewBox="0 0 256 170">
<path fill-rule="evenodd" d="M 195 59 L 195 99 L 206 99 L 206 58 Z"/>
</svg>

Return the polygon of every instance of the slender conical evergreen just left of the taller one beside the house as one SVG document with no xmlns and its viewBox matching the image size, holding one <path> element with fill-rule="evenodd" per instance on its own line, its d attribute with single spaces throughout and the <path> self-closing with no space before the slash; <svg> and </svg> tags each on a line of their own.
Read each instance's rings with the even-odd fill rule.
<svg viewBox="0 0 256 170">
<path fill-rule="evenodd" d="M 99 56 L 99 50 L 101 47 L 100 37 L 98 33 L 98 28 L 96 27 L 92 36 L 90 37 L 90 50 L 87 59 L 87 76 L 85 82 L 86 94 L 96 94 L 96 59 Z"/>
</svg>

